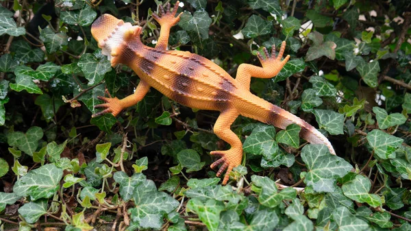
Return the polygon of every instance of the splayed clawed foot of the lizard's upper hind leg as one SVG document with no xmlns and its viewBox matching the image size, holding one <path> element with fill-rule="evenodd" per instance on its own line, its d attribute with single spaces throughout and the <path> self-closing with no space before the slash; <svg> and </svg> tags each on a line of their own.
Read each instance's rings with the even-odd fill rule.
<svg viewBox="0 0 411 231">
<path fill-rule="evenodd" d="M 257 57 L 260 60 L 261 64 L 263 67 L 275 67 L 275 69 L 278 69 L 278 72 L 281 71 L 282 67 L 287 63 L 287 61 L 290 59 L 290 56 L 288 55 L 284 60 L 281 60 L 284 51 L 286 50 L 286 41 L 282 42 L 281 49 L 279 49 L 278 56 L 275 56 L 275 45 L 271 47 L 271 56 L 269 54 L 269 51 L 264 47 L 262 49 L 264 51 L 265 57 L 262 57 L 262 54 L 260 52 L 257 53 Z M 278 73 L 277 72 L 277 73 Z M 277 75 L 275 73 L 275 75 Z"/>
</svg>

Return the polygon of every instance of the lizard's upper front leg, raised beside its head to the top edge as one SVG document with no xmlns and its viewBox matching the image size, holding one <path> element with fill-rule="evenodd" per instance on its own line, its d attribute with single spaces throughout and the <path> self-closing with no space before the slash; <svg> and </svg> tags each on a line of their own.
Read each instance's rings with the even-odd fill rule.
<svg viewBox="0 0 411 231">
<path fill-rule="evenodd" d="M 179 1 L 174 4 L 173 12 L 170 12 L 171 5 L 167 3 L 166 10 L 164 10 L 162 5 L 159 5 L 161 16 L 155 14 L 153 12 L 153 18 L 157 21 L 160 26 L 160 38 L 158 38 L 157 45 L 155 45 L 156 49 L 167 49 L 169 45 L 169 36 L 170 36 L 170 29 L 174 25 L 176 25 L 179 21 L 179 16 L 182 14 L 175 16 L 178 10 Z"/>
</svg>

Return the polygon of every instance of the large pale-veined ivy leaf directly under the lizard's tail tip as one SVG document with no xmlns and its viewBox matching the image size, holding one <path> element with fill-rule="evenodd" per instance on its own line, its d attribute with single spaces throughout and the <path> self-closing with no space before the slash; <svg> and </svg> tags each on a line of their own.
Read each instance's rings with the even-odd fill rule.
<svg viewBox="0 0 411 231">
<path fill-rule="evenodd" d="M 306 145 L 301 150 L 301 158 L 308 169 L 304 182 L 319 193 L 334 192 L 336 178 L 342 178 L 353 168 L 343 158 L 329 154 L 325 145 Z"/>
</svg>

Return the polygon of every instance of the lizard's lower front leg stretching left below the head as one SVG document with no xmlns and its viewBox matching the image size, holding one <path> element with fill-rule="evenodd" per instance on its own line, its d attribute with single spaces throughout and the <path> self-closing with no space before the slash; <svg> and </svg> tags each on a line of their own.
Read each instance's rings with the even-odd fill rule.
<svg viewBox="0 0 411 231">
<path fill-rule="evenodd" d="M 134 92 L 133 95 L 129 95 L 125 97 L 124 99 L 118 99 L 117 97 L 97 97 L 103 101 L 105 101 L 105 104 L 99 104 L 96 105 L 95 108 L 105 108 L 101 112 L 97 112 L 96 114 L 92 114 L 91 117 L 98 117 L 101 114 L 105 113 L 111 113 L 114 115 L 114 117 L 121 112 L 124 108 L 131 107 L 133 105 L 136 105 L 139 101 L 141 101 L 142 98 L 145 97 L 145 95 L 149 92 L 150 86 L 143 80 L 140 80 L 140 83 L 138 84 L 136 91 Z"/>
</svg>

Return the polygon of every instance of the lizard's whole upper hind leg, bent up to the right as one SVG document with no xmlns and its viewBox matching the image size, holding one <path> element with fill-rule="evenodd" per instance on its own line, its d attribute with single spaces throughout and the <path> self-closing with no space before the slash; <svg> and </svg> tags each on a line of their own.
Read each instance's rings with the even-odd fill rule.
<svg viewBox="0 0 411 231">
<path fill-rule="evenodd" d="M 271 48 L 271 57 L 269 52 L 264 47 L 264 54 L 265 58 L 262 57 L 261 53 L 258 52 L 257 56 L 260 60 L 262 67 L 254 66 L 251 64 L 240 64 L 238 66 L 236 80 L 241 84 L 241 86 L 245 87 L 247 90 L 250 89 L 250 82 L 251 77 L 260 77 L 260 78 L 271 78 L 274 77 L 281 71 L 283 66 L 287 63 L 290 56 L 281 60 L 284 50 L 286 49 L 286 41 L 282 42 L 281 49 L 279 49 L 279 54 L 275 57 L 275 46 Z"/>
</svg>

